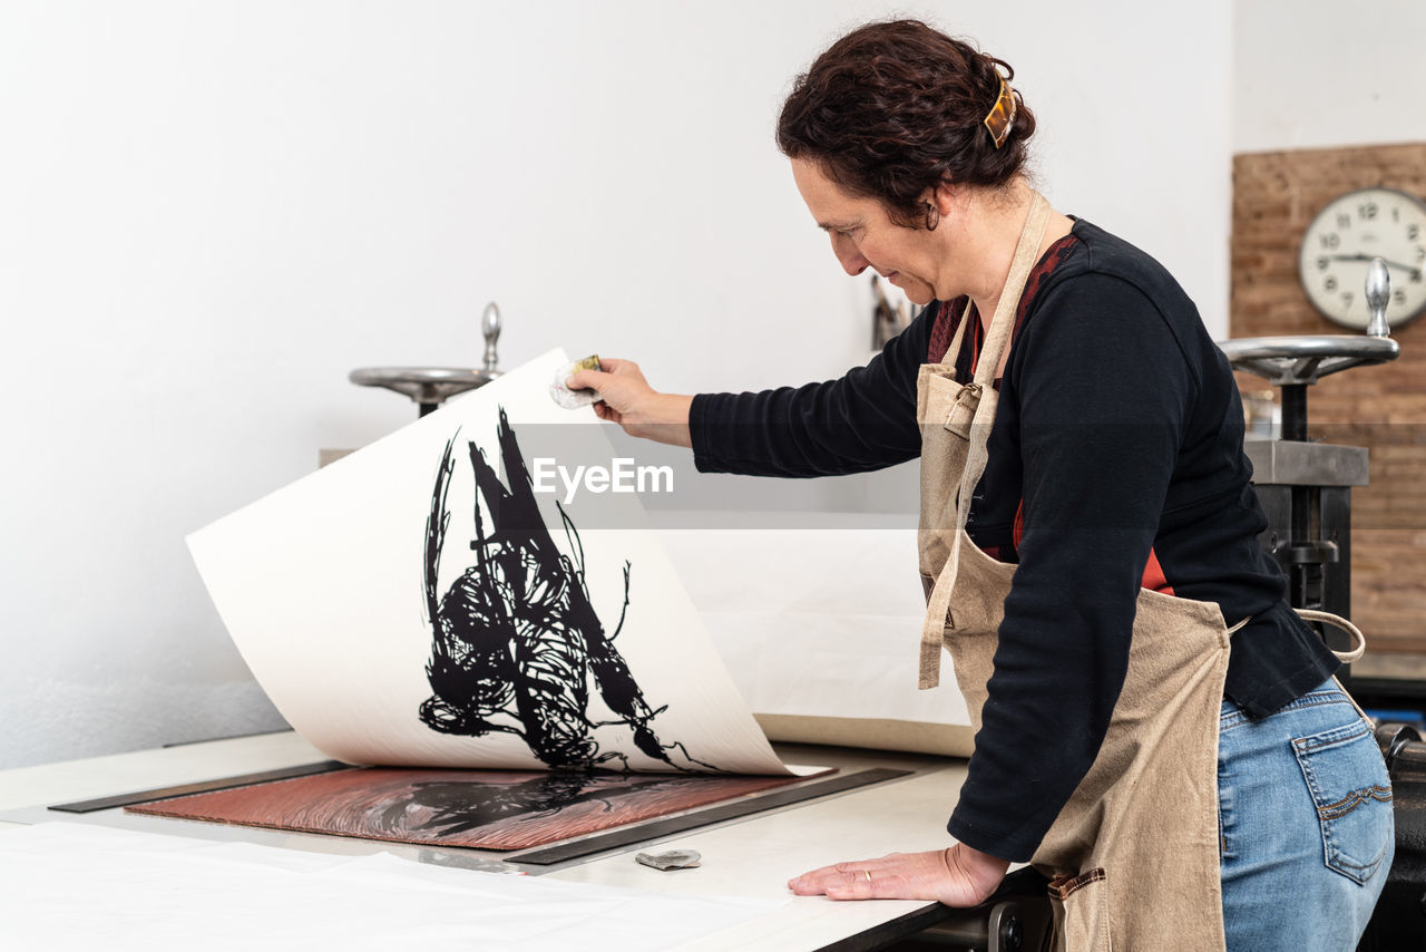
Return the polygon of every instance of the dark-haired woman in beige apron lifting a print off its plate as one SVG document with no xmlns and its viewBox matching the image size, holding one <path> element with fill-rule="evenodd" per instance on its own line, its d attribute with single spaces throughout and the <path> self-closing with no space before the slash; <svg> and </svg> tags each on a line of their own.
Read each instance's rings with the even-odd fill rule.
<svg viewBox="0 0 1426 952">
<path fill-rule="evenodd" d="M 977 728 L 955 842 L 793 892 L 965 906 L 1032 861 L 1065 948 L 1349 949 L 1393 844 L 1370 725 L 1258 545 L 1226 361 L 1156 261 L 1030 187 L 1012 76 L 880 23 L 784 104 L 841 267 L 925 305 L 867 367 L 760 394 L 662 394 L 629 361 L 569 383 L 703 471 L 921 455 L 923 687 L 944 638 Z"/>
</svg>

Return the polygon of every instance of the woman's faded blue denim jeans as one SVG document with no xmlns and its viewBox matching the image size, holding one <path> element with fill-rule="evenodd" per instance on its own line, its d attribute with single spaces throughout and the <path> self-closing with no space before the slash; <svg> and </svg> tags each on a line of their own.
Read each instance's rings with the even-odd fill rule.
<svg viewBox="0 0 1426 952">
<path fill-rule="evenodd" d="M 1328 681 L 1259 721 L 1224 701 L 1219 731 L 1229 952 L 1350 952 L 1396 848 L 1370 724 Z"/>
</svg>

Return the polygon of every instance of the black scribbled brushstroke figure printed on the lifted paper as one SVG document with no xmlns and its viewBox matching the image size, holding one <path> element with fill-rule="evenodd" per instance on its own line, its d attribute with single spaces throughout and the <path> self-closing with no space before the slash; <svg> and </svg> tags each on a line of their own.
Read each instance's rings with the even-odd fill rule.
<svg viewBox="0 0 1426 952">
<path fill-rule="evenodd" d="M 503 407 L 498 437 L 509 488 L 481 448 L 468 441 L 476 485 L 475 564 L 439 594 L 458 437 L 446 442 L 426 520 L 425 597 L 434 635 L 426 678 L 434 694 L 421 704 L 422 722 L 442 734 L 515 734 L 556 769 L 607 769 L 616 761 L 619 769 L 627 769 L 627 756 L 600 749 L 592 734 L 625 725 L 645 755 L 679 771 L 716 771 L 655 732 L 653 719 L 667 705 L 649 705 L 613 644 L 629 611 L 630 565 L 623 565 L 619 624 L 606 634 L 585 584 L 579 532 L 556 502 L 573 558 L 555 545 Z M 492 522 L 489 532 L 482 502 Z M 617 719 L 590 719 L 590 677 Z M 674 752 L 683 762 L 674 762 Z"/>
</svg>

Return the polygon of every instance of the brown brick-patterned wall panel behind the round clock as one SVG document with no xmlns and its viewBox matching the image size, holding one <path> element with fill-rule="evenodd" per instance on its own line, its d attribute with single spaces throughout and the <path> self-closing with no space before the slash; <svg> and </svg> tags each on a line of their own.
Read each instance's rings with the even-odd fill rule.
<svg viewBox="0 0 1426 952">
<path fill-rule="evenodd" d="M 1332 198 L 1373 186 L 1426 196 L 1426 143 L 1242 154 L 1233 158 L 1232 337 L 1348 334 L 1308 303 L 1298 245 Z M 1372 452 L 1352 492 L 1352 615 L 1372 651 L 1426 654 L 1426 317 L 1392 337 L 1402 355 L 1319 381 L 1309 434 Z M 1243 393 L 1266 381 L 1238 375 Z"/>
</svg>

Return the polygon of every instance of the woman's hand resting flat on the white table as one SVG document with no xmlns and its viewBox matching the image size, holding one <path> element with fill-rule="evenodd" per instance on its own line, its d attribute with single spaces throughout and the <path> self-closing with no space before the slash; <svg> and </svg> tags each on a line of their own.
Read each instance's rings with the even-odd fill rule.
<svg viewBox="0 0 1426 952">
<path fill-rule="evenodd" d="M 1010 862 L 955 844 L 924 854 L 891 854 L 881 859 L 838 862 L 791 879 L 799 896 L 829 899 L 934 899 L 948 906 L 975 906 L 995 892 Z"/>
</svg>

